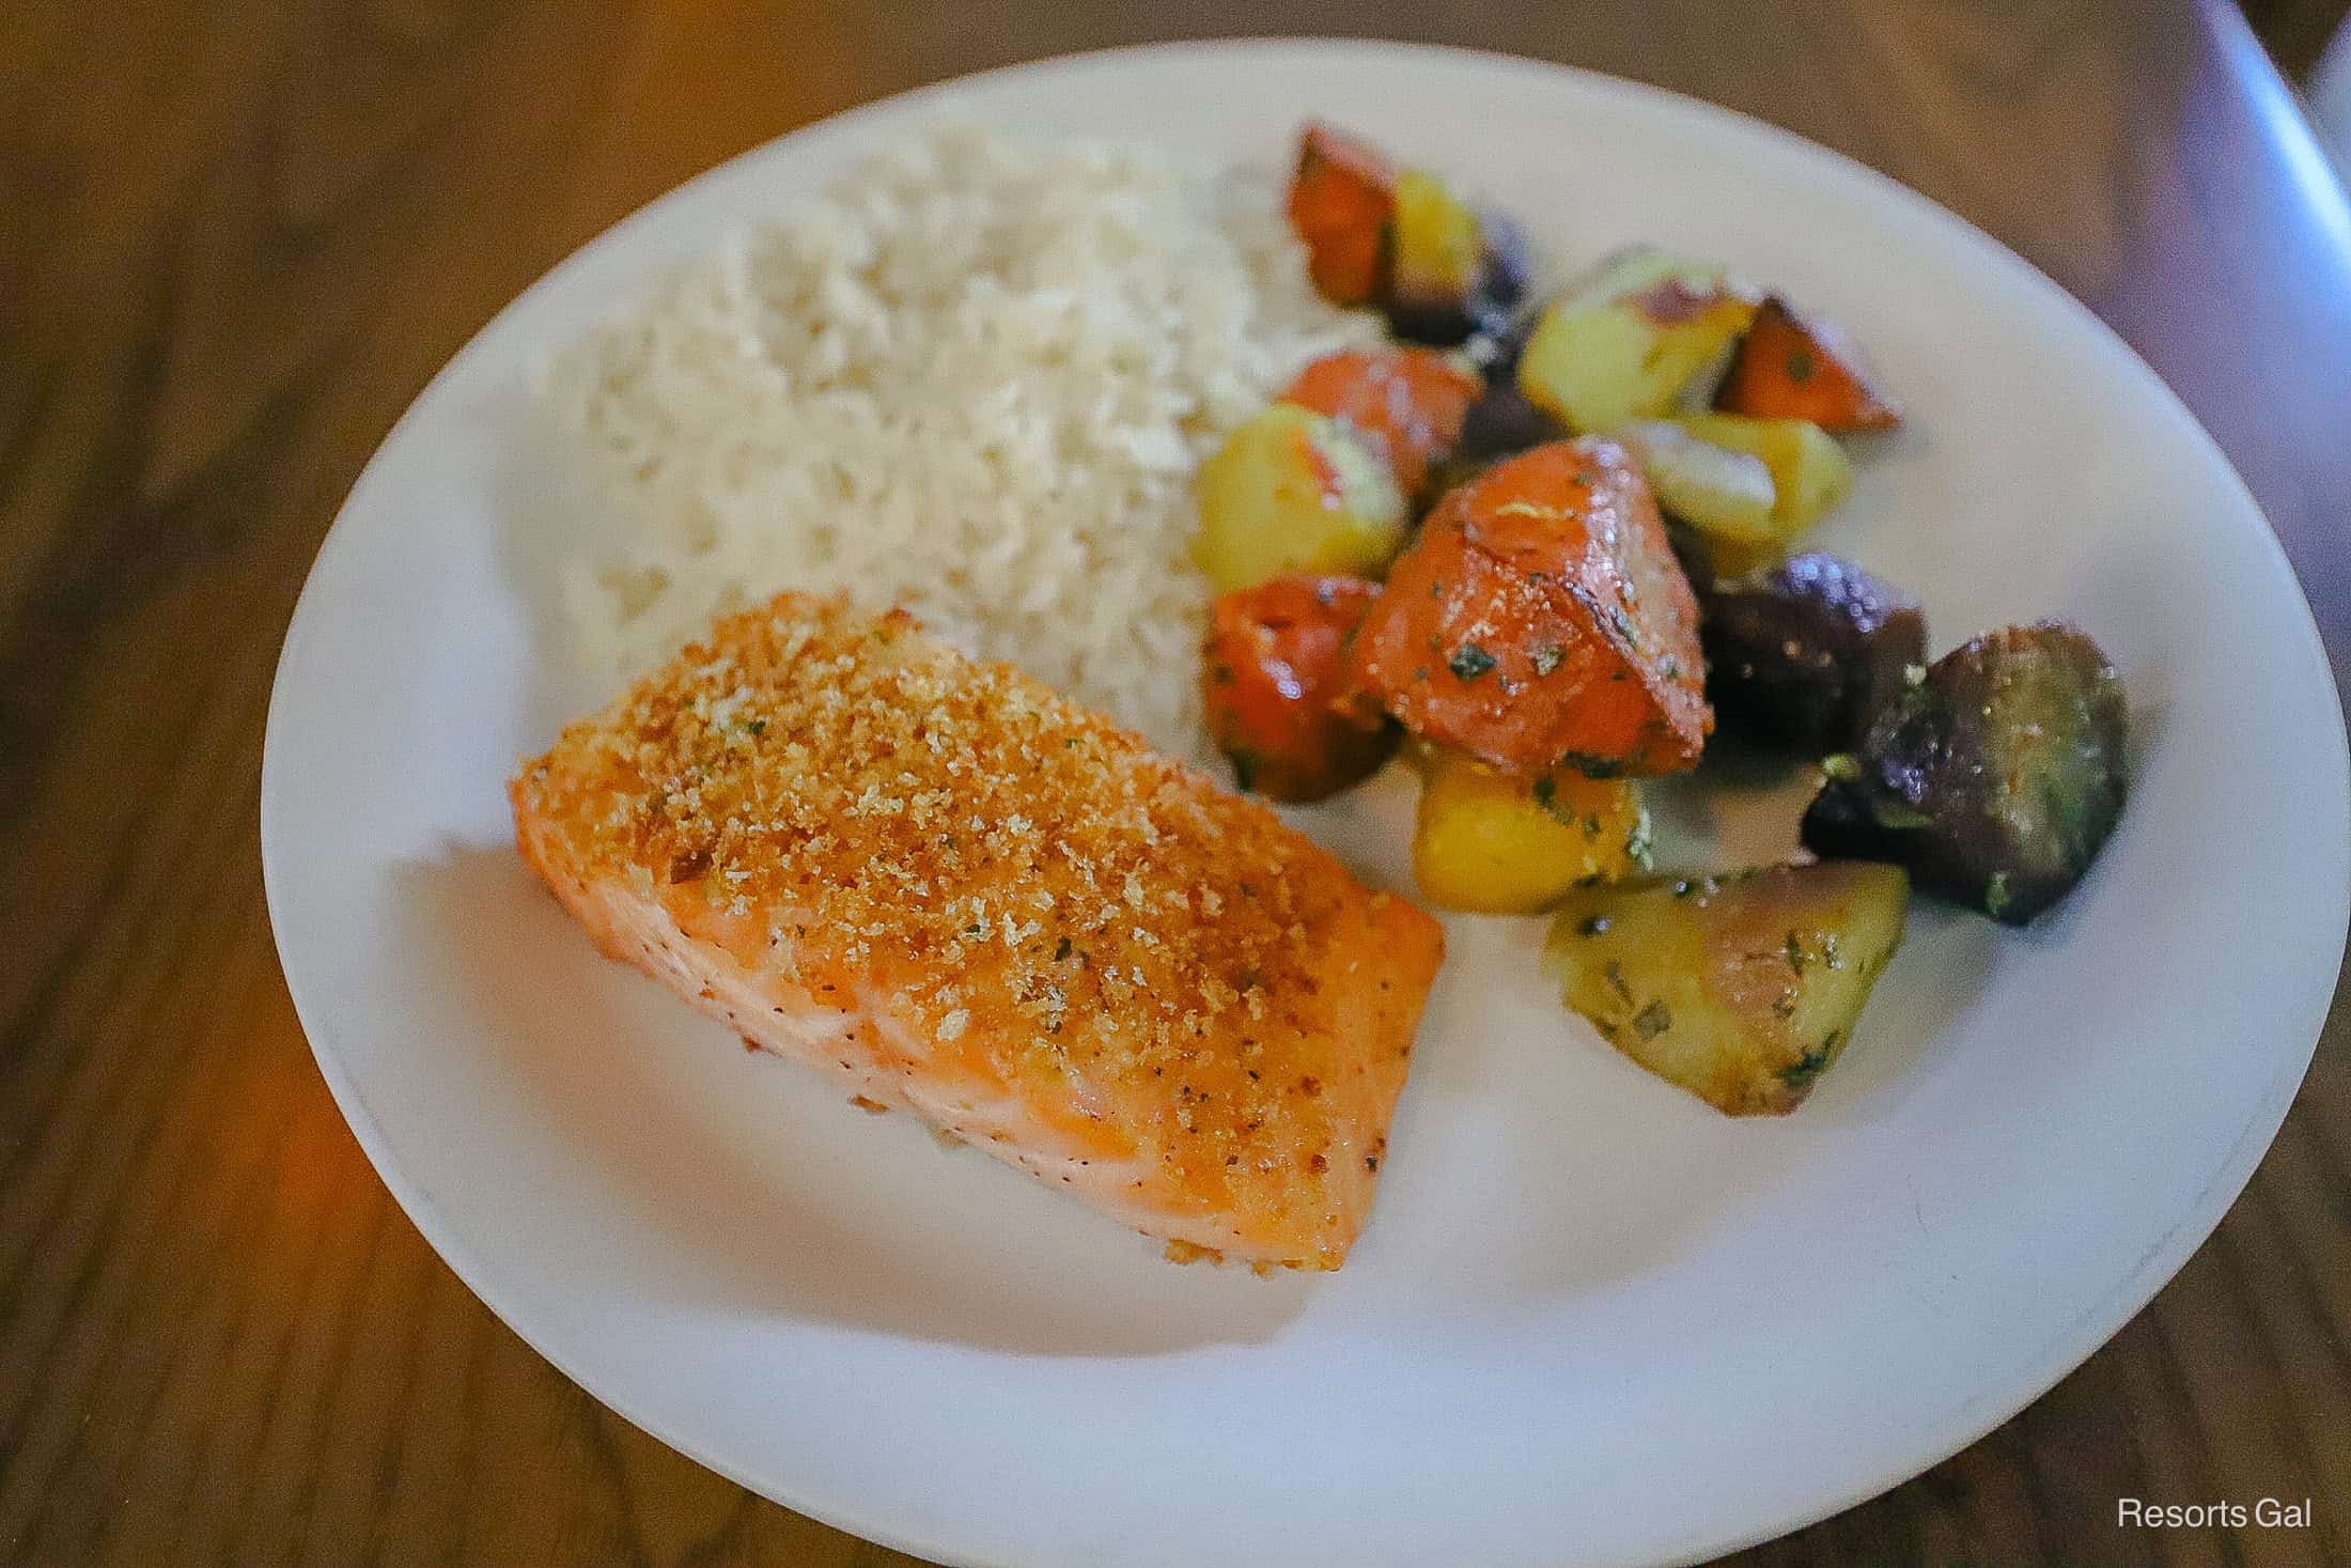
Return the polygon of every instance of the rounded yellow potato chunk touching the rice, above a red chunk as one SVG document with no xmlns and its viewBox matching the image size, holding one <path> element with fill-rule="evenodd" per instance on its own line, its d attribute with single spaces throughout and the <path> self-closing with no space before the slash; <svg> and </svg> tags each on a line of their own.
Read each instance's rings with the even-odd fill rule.
<svg viewBox="0 0 2351 1568">
<path fill-rule="evenodd" d="M 1328 414 L 1277 402 L 1199 465 L 1192 559 L 1223 592 L 1291 571 L 1375 578 L 1406 524 L 1380 456 Z"/>
</svg>

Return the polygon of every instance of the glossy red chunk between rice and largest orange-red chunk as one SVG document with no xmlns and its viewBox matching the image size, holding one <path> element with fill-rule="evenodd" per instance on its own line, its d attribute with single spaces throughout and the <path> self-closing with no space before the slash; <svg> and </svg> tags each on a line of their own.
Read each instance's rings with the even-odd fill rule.
<svg viewBox="0 0 2351 1568">
<path fill-rule="evenodd" d="M 1310 802 L 1380 771 L 1396 729 L 1349 701 L 1347 644 L 1380 585 L 1286 576 L 1218 595 L 1208 611 L 1201 698 L 1208 736 L 1244 790 Z"/>
</svg>

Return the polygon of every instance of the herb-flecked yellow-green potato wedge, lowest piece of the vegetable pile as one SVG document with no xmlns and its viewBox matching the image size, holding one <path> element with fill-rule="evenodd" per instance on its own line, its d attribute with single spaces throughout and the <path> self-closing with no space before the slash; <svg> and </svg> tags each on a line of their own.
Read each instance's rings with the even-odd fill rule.
<svg viewBox="0 0 2351 1568">
<path fill-rule="evenodd" d="M 1902 943 L 1893 865 L 1773 865 L 1580 889 L 1545 964 L 1617 1051 L 1730 1117 L 1813 1093 Z"/>
</svg>

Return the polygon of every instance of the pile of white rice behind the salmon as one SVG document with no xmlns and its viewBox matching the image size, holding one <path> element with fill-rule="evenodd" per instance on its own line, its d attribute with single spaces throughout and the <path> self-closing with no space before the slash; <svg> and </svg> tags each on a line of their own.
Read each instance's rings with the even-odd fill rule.
<svg viewBox="0 0 2351 1568">
<path fill-rule="evenodd" d="M 562 353 L 618 550 L 567 611 L 614 677 L 778 588 L 903 604 L 1178 755 L 1211 588 L 1192 473 L 1312 357 L 1272 183 L 950 122 Z"/>
</svg>

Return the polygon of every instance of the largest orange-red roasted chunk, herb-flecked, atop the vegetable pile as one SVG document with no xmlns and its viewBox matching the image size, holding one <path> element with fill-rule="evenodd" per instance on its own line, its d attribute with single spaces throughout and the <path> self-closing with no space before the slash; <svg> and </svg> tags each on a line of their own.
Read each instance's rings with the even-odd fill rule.
<svg viewBox="0 0 2351 1568">
<path fill-rule="evenodd" d="M 1357 632 L 1354 679 L 1404 729 L 1500 769 L 1697 764 L 1697 599 L 1615 442 L 1552 442 L 1446 494 Z"/>
</svg>

